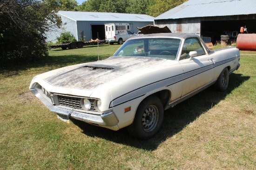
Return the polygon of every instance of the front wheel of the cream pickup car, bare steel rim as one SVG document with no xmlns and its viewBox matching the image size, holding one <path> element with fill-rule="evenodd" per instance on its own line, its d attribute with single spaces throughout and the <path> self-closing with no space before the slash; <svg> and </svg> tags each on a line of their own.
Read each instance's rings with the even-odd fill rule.
<svg viewBox="0 0 256 170">
<path fill-rule="evenodd" d="M 127 127 L 133 137 L 145 140 L 153 137 L 163 122 L 163 105 L 155 96 L 144 99 L 137 108 L 134 121 Z"/>
</svg>

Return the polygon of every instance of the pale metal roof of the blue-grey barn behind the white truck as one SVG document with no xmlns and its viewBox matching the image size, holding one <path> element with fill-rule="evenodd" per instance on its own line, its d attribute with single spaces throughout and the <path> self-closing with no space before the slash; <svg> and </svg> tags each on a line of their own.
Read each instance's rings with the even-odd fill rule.
<svg viewBox="0 0 256 170">
<path fill-rule="evenodd" d="M 59 11 L 58 14 L 75 21 L 154 21 L 154 17 L 145 14 L 76 11 Z"/>
</svg>

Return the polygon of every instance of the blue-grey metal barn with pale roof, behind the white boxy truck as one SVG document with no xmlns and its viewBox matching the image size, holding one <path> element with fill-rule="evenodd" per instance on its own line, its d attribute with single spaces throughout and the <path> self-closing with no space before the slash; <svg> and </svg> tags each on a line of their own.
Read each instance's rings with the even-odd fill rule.
<svg viewBox="0 0 256 170">
<path fill-rule="evenodd" d="M 131 32 L 137 33 L 138 27 L 153 25 L 154 17 L 145 14 L 129 13 L 98 13 L 98 12 L 75 12 L 59 11 L 62 28 L 47 35 L 48 41 L 56 41 L 61 32 L 71 32 L 75 39 L 91 40 L 105 39 L 104 24 L 129 23 Z"/>
</svg>

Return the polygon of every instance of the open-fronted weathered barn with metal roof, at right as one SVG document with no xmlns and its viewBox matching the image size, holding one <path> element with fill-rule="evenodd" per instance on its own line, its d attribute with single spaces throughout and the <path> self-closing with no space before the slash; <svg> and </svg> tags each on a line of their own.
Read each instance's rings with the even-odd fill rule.
<svg viewBox="0 0 256 170">
<path fill-rule="evenodd" d="M 173 33 L 195 33 L 212 37 L 212 42 L 227 34 L 236 38 L 241 27 L 256 33 L 256 0 L 188 0 L 154 20 Z"/>
</svg>

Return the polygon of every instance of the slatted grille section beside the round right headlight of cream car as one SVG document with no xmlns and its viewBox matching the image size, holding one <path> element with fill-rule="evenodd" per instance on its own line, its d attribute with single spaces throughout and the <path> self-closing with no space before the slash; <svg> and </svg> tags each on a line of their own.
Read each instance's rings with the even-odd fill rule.
<svg viewBox="0 0 256 170">
<path fill-rule="evenodd" d="M 70 96 L 60 96 L 58 95 L 59 98 L 59 104 L 67 107 L 71 107 L 74 109 L 82 109 L 80 100 L 81 98 L 74 98 Z"/>
</svg>

